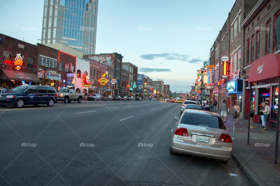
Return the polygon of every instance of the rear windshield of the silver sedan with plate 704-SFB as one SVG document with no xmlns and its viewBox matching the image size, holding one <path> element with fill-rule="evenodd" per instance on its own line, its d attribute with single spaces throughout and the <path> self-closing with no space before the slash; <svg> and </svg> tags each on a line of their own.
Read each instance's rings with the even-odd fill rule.
<svg viewBox="0 0 280 186">
<path fill-rule="evenodd" d="M 226 130 L 225 125 L 220 117 L 211 116 L 208 114 L 185 112 L 185 114 L 182 116 L 181 124 L 204 126 Z"/>
</svg>

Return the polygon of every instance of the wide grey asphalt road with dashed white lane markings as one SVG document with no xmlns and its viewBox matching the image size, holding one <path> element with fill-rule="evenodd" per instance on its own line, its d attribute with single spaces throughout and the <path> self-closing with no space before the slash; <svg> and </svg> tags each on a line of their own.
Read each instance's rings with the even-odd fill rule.
<svg viewBox="0 0 280 186">
<path fill-rule="evenodd" d="M 0 108 L 0 185 L 251 185 L 233 159 L 169 154 L 180 107 L 134 100 Z"/>
</svg>

